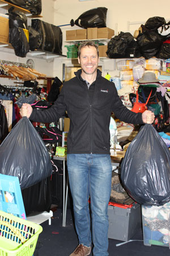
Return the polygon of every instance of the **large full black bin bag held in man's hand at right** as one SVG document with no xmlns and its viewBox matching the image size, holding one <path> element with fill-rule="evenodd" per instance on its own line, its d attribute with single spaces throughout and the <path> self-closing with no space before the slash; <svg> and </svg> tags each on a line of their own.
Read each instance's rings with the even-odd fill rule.
<svg viewBox="0 0 170 256">
<path fill-rule="evenodd" d="M 121 180 L 142 205 L 170 201 L 170 152 L 152 125 L 145 125 L 130 143 L 121 164 Z"/>
</svg>

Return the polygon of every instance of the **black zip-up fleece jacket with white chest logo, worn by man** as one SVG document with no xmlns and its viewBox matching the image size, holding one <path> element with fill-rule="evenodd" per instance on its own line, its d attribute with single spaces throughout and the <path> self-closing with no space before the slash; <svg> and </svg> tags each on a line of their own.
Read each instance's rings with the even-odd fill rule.
<svg viewBox="0 0 170 256">
<path fill-rule="evenodd" d="M 90 102 L 88 88 L 80 80 L 80 73 L 63 83 L 54 105 L 46 110 L 34 109 L 30 119 L 36 122 L 56 122 L 67 114 L 70 130 L 67 138 L 67 154 L 110 154 L 109 123 L 111 113 L 127 123 L 141 123 L 142 114 L 127 109 L 117 94 L 113 82 L 101 76 L 97 69 L 95 91 Z"/>
</svg>

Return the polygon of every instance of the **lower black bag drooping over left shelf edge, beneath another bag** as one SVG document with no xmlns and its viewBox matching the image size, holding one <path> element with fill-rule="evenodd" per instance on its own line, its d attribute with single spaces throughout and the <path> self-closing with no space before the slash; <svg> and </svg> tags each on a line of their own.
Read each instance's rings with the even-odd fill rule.
<svg viewBox="0 0 170 256">
<path fill-rule="evenodd" d="M 29 52 L 29 44 L 28 40 L 25 36 L 23 28 L 20 27 L 12 27 L 9 32 L 9 42 L 12 44 L 14 48 L 14 52 L 16 56 L 26 57 L 27 52 Z"/>
</svg>

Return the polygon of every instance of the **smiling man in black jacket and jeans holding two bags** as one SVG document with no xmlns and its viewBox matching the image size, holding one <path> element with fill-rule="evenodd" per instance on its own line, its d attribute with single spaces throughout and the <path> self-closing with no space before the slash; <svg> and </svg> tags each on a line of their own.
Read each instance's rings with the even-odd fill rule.
<svg viewBox="0 0 170 256">
<path fill-rule="evenodd" d="M 108 203 L 111 195 L 112 164 L 109 123 L 111 113 L 128 123 L 152 123 L 148 110 L 133 113 L 122 104 L 116 87 L 97 69 L 99 51 L 93 42 L 80 45 L 78 61 L 82 69 L 63 84 L 61 93 L 48 110 L 33 110 L 23 104 L 27 117 L 37 122 L 54 122 L 65 111 L 70 118 L 67 138 L 67 169 L 74 204 L 79 245 L 70 256 L 108 255 Z M 88 199 L 90 196 L 90 210 Z M 92 230 L 92 238 L 91 238 Z M 116 230 L 115 230 L 116 232 Z"/>
</svg>

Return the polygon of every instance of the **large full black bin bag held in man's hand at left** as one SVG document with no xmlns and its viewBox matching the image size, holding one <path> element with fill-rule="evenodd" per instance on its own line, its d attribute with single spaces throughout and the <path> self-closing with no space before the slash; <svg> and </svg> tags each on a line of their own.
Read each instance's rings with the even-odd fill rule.
<svg viewBox="0 0 170 256">
<path fill-rule="evenodd" d="M 21 189 L 52 174 L 48 150 L 27 117 L 20 119 L 1 143 L 0 173 L 18 176 Z"/>
</svg>

